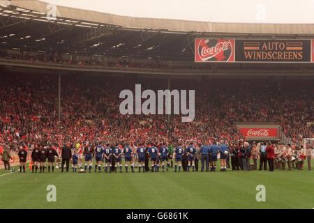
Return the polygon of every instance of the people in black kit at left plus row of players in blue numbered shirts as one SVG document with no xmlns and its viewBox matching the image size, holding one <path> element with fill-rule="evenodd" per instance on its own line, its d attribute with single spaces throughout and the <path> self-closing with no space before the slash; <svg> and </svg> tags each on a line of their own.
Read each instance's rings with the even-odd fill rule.
<svg viewBox="0 0 314 223">
<path fill-rule="evenodd" d="M 152 146 L 151 146 L 152 145 Z M 66 146 L 70 147 L 70 144 Z M 95 144 L 90 145 L 88 141 L 84 142 L 82 146 L 80 144 L 75 145 L 74 153 L 70 152 L 70 157 L 72 158 L 72 169 L 73 172 L 79 171 L 89 171 L 91 172 L 93 166 L 93 160 L 95 160 L 94 171 L 101 171 L 101 164 L 103 162 L 103 169 L 105 172 L 118 170 L 122 171 L 122 157 L 125 160 L 125 169 L 128 172 L 128 167 L 130 165 L 130 170 L 135 172 L 135 163 L 137 163 L 138 171 L 146 171 L 148 167 L 148 161 L 151 161 L 151 172 L 157 172 L 162 169 L 162 171 L 169 171 L 170 160 L 174 159 L 174 171 L 181 171 L 182 157 L 186 155 L 188 158 L 187 171 L 195 171 L 195 153 L 196 148 L 191 143 L 190 145 L 182 146 L 179 144 L 174 151 L 170 151 L 165 143 L 157 148 L 155 144 L 139 144 L 135 150 L 126 144 L 124 148 L 116 145 L 110 147 L 110 144 Z M 27 147 L 21 146 L 18 153 L 20 157 L 20 172 L 25 172 L 25 164 L 27 162 Z M 49 145 L 44 146 L 44 144 L 38 144 L 31 152 L 31 169 L 32 172 L 37 172 L 38 168 L 40 173 L 45 172 L 47 167 L 48 171 L 54 172 L 55 158 L 57 157 L 57 162 L 59 162 L 59 153 L 57 152 L 57 146 Z M 82 169 L 82 160 L 84 157 L 84 169 Z M 47 161 L 47 166 L 46 166 Z M 63 164 L 62 164 L 63 166 Z M 68 168 L 67 168 L 68 169 Z"/>
</svg>

